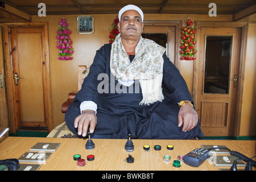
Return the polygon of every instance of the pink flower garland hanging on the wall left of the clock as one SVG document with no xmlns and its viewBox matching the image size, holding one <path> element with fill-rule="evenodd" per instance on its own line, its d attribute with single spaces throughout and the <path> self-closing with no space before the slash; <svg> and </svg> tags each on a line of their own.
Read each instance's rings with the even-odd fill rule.
<svg viewBox="0 0 256 182">
<path fill-rule="evenodd" d="M 73 48 L 71 46 L 72 41 L 69 38 L 71 31 L 68 29 L 69 23 L 65 18 L 62 18 L 59 22 L 59 30 L 57 30 L 57 48 L 59 49 L 59 60 L 72 60 Z"/>
</svg>

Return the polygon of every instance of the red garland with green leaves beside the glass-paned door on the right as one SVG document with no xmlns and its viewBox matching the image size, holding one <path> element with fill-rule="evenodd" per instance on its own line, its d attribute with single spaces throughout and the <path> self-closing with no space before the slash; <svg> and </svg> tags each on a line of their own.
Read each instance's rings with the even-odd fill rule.
<svg viewBox="0 0 256 182">
<path fill-rule="evenodd" d="M 187 18 L 181 29 L 181 40 L 180 40 L 180 60 L 195 60 L 196 59 L 196 29 L 191 19 Z"/>
</svg>

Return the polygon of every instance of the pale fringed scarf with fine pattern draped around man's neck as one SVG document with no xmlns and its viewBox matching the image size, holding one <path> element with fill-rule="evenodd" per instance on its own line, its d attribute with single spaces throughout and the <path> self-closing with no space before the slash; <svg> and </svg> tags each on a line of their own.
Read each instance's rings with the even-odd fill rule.
<svg viewBox="0 0 256 182">
<path fill-rule="evenodd" d="M 143 99 L 139 103 L 153 104 L 164 99 L 162 93 L 163 53 L 166 49 L 141 36 L 135 57 L 130 63 L 129 55 L 122 45 L 121 34 L 112 43 L 110 71 L 119 80 L 139 80 Z"/>
</svg>

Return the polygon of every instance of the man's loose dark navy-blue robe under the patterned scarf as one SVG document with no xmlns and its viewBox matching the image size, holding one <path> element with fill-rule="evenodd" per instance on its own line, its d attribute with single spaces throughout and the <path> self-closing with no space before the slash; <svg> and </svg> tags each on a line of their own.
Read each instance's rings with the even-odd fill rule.
<svg viewBox="0 0 256 182">
<path fill-rule="evenodd" d="M 149 106 L 139 105 L 139 102 L 142 101 L 142 92 L 140 87 L 136 87 L 139 86 L 137 85 L 139 84 L 138 80 L 127 87 L 119 84 L 117 79 L 113 80 L 111 79 L 113 77 L 110 77 L 112 74 L 110 72 L 111 45 L 105 44 L 96 52 L 90 72 L 65 114 L 65 122 L 69 129 L 77 135 L 74 121 L 80 114 L 80 104 L 82 101 L 93 101 L 98 106 L 94 138 L 127 139 L 129 132 L 133 134 L 132 138 L 138 139 L 203 138 L 200 122 L 194 129 L 187 132 L 182 131 L 183 126 L 178 127 L 177 115 L 180 109 L 178 102 L 181 100 L 192 101 L 192 97 L 186 82 L 170 59 L 165 54 L 163 55 L 164 100 Z M 134 56 L 130 56 L 131 60 L 133 58 Z M 108 75 L 109 92 L 98 93 L 97 86 L 98 84 L 102 85 L 103 80 L 102 78 L 97 79 L 100 73 Z M 110 92 L 111 86 L 117 88 L 114 93 Z M 118 88 L 127 90 L 127 93 L 119 93 Z M 135 93 L 135 88 L 139 88 L 139 93 Z"/>
</svg>

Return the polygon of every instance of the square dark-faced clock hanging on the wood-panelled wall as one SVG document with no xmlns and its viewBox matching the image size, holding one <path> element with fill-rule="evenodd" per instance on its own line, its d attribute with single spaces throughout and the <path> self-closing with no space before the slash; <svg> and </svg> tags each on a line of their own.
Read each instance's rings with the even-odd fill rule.
<svg viewBox="0 0 256 182">
<path fill-rule="evenodd" d="M 77 31 L 79 34 L 92 34 L 94 31 L 93 21 L 93 16 L 78 16 Z"/>
</svg>

